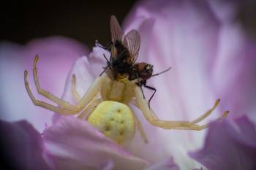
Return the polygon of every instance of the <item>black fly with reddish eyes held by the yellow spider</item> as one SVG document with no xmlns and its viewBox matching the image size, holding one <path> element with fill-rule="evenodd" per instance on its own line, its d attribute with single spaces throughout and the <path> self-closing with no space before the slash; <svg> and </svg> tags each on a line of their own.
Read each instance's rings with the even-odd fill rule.
<svg viewBox="0 0 256 170">
<path fill-rule="evenodd" d="M 148 106 L 150 107 L 150 101 L 157 92 L 157 89 L 146 85 L 146 81 L 151 77 L 167 72 L 170 68 L 163 72 L 153 74 L 153 65 L 148 63 L 135 63 L 140 50 L 140 34 L 133 29 L 124 36 L 124 32 L 114 15 L 110 18 L 110 31 L 111 42 L 106 47 L 102 47 L 97 43 L 99 47 L 110 50 L 109 60 L 104 55 L 107 66 L 104 68 L 102 74 L 106 70 L 110 70 L 115 80 L 118 80 L 118 77 L 127 77 L 128 80 L 137 79 L 138 82 L 136 82 L 136 84 L 140 86 L 142 92 L 142 86 L 154 90 L 154 93 L 148 100 Z"/>
</svg>

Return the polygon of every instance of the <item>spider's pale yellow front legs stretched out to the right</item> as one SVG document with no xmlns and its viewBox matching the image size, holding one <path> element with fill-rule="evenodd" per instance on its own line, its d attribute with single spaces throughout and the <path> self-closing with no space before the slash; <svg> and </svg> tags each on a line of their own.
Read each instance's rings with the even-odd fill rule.
<svg viewBox="0 0 256 170">
<path fill-rule="evenodd" d="M 217 101 L 217 103 L 214 104 L 214 107 L 212 109 L 210 109 L 208 112 L 206 112 L 199 118 L 193 120 L 192 122 L 170 121 L 170 120 L 159 120 L 152 116 L 152 113 L 151 113 L 152 111 L 151 111 L 151 109 L 149 109 L 148 103 L 145 100 L 145 98 L 143 98 L 143 94 L 142 94 L 140 88 L 138 88 L 138 87 L 135 88 L 135 98 L 136 98 L 136 101 L 138 102 L 138 107 L 140 108 L 141 112 L 143 112 L 143 115 L 144 115 L 144 117 L 146 117 L 146 120 L 148 120 L 148 122 L 151 123 L 152 125 L 156 125 L 160 128 L 166 128 L 166 129 L 187 129 L 187 130 L 199 131 L 204 128 L 207 128 L 208 124 L 196 125 L 195 123 L 200 122 L 200 120 L 203 120 L 205 117 L 210 115 L 211 112 L 213 111 L 213 109 L 215 109 L 215 107 L 217 107 L 217 104 L 218 104 L 218 101 Z M 228 111 L 226 111 L 222 115 L 222 117 L 227 116 L 227 114 L 228 114 Z M 222 117 L 219 117 L 219 119 Z"/>
</svg>

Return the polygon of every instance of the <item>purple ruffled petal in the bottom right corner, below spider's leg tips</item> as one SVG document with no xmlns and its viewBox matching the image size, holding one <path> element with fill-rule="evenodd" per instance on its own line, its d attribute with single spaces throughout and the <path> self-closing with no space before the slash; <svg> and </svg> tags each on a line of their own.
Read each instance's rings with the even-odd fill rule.
<svg viewBox="0 0 256 170">
<path fill-rule="evenodd" d="M 202 150 L 190 153 L 192 158 L 210 170 L 256 169 L 256 129 L 247 117 L 235 124 L 214 123 L 208 130 Z"/>
</svg>

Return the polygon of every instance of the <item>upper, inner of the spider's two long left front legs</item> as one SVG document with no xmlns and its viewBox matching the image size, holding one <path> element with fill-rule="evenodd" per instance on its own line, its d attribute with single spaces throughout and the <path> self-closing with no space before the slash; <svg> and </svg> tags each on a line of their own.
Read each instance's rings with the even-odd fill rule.
<svg viewBox="0 0 256 170">
<path fill-rule="evenodd" d="M 37 92 L 39 94 L 41 94 L 42 96 L 45 96 L 46 98 L 48 98 L 50 101 L 53 101 L 56 104 L 59 104 L 64 109 L 70 109 L 70 110 L 73 110 L 73 111 L 76 111 L 76 112 L 79 112 L 81 109 L 83 109 L 79 105 L 75 106 L 73 104 L 70 104 L 69 102 L 64 101 L 64 100 L 54 96 L 53 94 L 49 93 L 48 91 L 40 88 L 39 81 L 38 81 L 38 76 L 37 76 L 37 62 L 38 62 L 38 60 L 39 60 L 39 57 L 36 55 L 36 57 L 34 58 L 33 75 L 34 75 L 34 82 L 36 84 Z"/>
</svg>

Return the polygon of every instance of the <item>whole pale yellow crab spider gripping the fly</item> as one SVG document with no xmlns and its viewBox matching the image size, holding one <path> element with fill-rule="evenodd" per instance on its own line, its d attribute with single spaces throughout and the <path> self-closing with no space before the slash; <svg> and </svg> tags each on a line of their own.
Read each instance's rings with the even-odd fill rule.
<svg viewBox="0 0 256 170">
<path fill-rule="evenodd" d="M 128 104 L 133 104 L 135 107 L 138 107 L 151 125 L 165 129 L 195 131 L 200 131 L 208 127 L 208 124 L 198 125 L 197 123 L 208 117 L 208 115 L 211 115 L 211 112 L 213 112 L 219 104 L 219 100 L 215 101 L 214 107 L 190 122 L 159 120 L 157 115 L 148 107 L 148 101 L 143 97 L 141 88 L 136 85 L 136 81 L 139 80 L 114 80 L 113 75 L 107 71 L 92 82 L 91 86 L 83 96 L 79 96 L 77 93 L 75 89 L 75 75 L 72 76 L 72 94 L 78 101 L 78 104 L 74 105 L 54 96 L 40 87 L 37 76 L 38 61 L 39 57 L 36 56 L 34 59 L 33 74 L 37 92 L 42 96 L 45 96 L 45 98 L 48 98 L 50 101 L 53 101 L 55 104 L 58 104 L 59 107 L 44 101 L 39 101 L 34 97 L 29 88 L 29 82 L 27 81 L 28 71 L 25 70 L 24 81 L 26 90 L 34 105 L 61 115 L 78 115 L 78 118 L 80 119 L 83 119 L 88 115 L 86 120 L 88 120 L 89 123 L 94 125 L 95 128 L 98 128 L 99 131 L 113 139 L 113 141 L 116 141 L 118 144 L 130 142 L 133 139 L 135 126 L 137 126 L 144 142 L 148 142 L 146 134 L 140 125 L 140 121 L 129 108 Z M 97 98 L 98 94 L 100 96 L 99 98 Z M 227 114 L 228 111 L 219 117 L 219 119 L 227 116 Z"/>
</svg>

